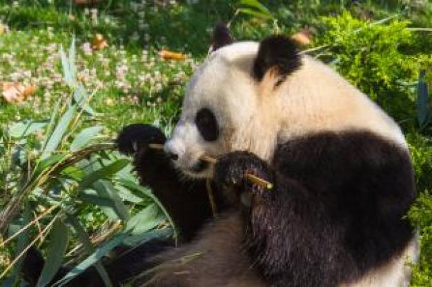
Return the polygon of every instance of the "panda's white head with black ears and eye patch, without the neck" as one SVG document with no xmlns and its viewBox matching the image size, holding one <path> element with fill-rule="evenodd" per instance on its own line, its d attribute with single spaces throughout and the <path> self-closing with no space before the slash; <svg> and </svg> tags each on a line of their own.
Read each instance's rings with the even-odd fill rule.
<svg viewBox="0 0 432 287">
<path fill-rule="evenodd" d="M 233 150 L 249 150 L 269 159 L 277 120 L 270 99 L 284 79 L 300 66 L 291 39 L 274 36 L 261 43 L 233 43 L 225 26 L 214 32 L 213 51 L 186 88 L 180 119 L 165 151 L 192 177 L 212 177 L 199 160 Z"/>
</svg>

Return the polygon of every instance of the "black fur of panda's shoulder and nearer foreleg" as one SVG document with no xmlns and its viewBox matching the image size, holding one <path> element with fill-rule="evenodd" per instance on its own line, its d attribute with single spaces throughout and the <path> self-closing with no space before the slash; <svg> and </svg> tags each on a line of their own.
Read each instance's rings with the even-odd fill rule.
<svg viewBox="0 0 432 287">
<path fill-rule="evenodd" d="M 216 178 L 256 169 L 225 156 Z M 246 166 L 246 168 L 245 168 Z M 413 238 L 403 219 L 415 199 L 409 153 L 371 132 L 324 132 L 278 146 L 273 190 L 244 205 L 244 244 L 271 286 L 333 287 L 400 254 Z M 232 183 L 238 185 L 237 180 Z M 247 186 L 243 192 L 251 190 Z"/>
</svg>

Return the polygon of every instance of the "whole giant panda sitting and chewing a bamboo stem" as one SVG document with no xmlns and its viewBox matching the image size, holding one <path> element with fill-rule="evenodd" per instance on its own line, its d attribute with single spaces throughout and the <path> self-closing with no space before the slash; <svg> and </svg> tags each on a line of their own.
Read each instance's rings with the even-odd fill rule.
<svg viewBox="0 0 432 287">
<path fill-rule="evenodd" d="M 405 218 L 416 194 L 404 136 L 288 37 L 234 42 L 218 25 L 170 138 L 132 124 L 117 142 L 184 242 L 154 257 L 137 286 L 409 284 L 418 246 Z"/>
</svg>

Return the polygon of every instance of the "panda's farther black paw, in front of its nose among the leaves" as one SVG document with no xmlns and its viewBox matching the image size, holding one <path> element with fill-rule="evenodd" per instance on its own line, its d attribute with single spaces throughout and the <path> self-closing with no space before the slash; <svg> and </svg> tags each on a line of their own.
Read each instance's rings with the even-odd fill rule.
<svg viewBox="0 0 432 287">
<path fill-rule="evenodd" d="M 138 152 L 145 152 L 149 143 L 165 143 L 164 132 L 143 123 L 132 123 L 125 126 L 116 139 L 119 152 L 125 155 L 136 155 Z"/>
</svg>

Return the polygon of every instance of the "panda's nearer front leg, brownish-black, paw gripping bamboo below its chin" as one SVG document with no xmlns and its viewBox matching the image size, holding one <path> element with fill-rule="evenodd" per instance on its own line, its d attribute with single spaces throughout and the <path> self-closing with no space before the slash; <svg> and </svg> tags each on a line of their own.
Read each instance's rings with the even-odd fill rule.
<svg viewBox="0 0 432 287">
<path fill-rule="evenodd" d="M 273 188 L 251 183 L 246 173 L 272 182 Z M 320 217 L 321 206 L 300 182 L 281 175 L 251 152 L 230 152 L 219 158 L 214 176 L 222 189 L 237 197 L 242 248 L 251 268 L 268 286 L 331 286 L 323 281 L 325 262 L 315 256 L 316 248 L 310 248 L 312 241 L 322 241 L 320 248 L 328 242 L 322 239 L 326 226 L 314 225 L 320 220 L 310 218 L 311 214 Z"/>
</svg>

